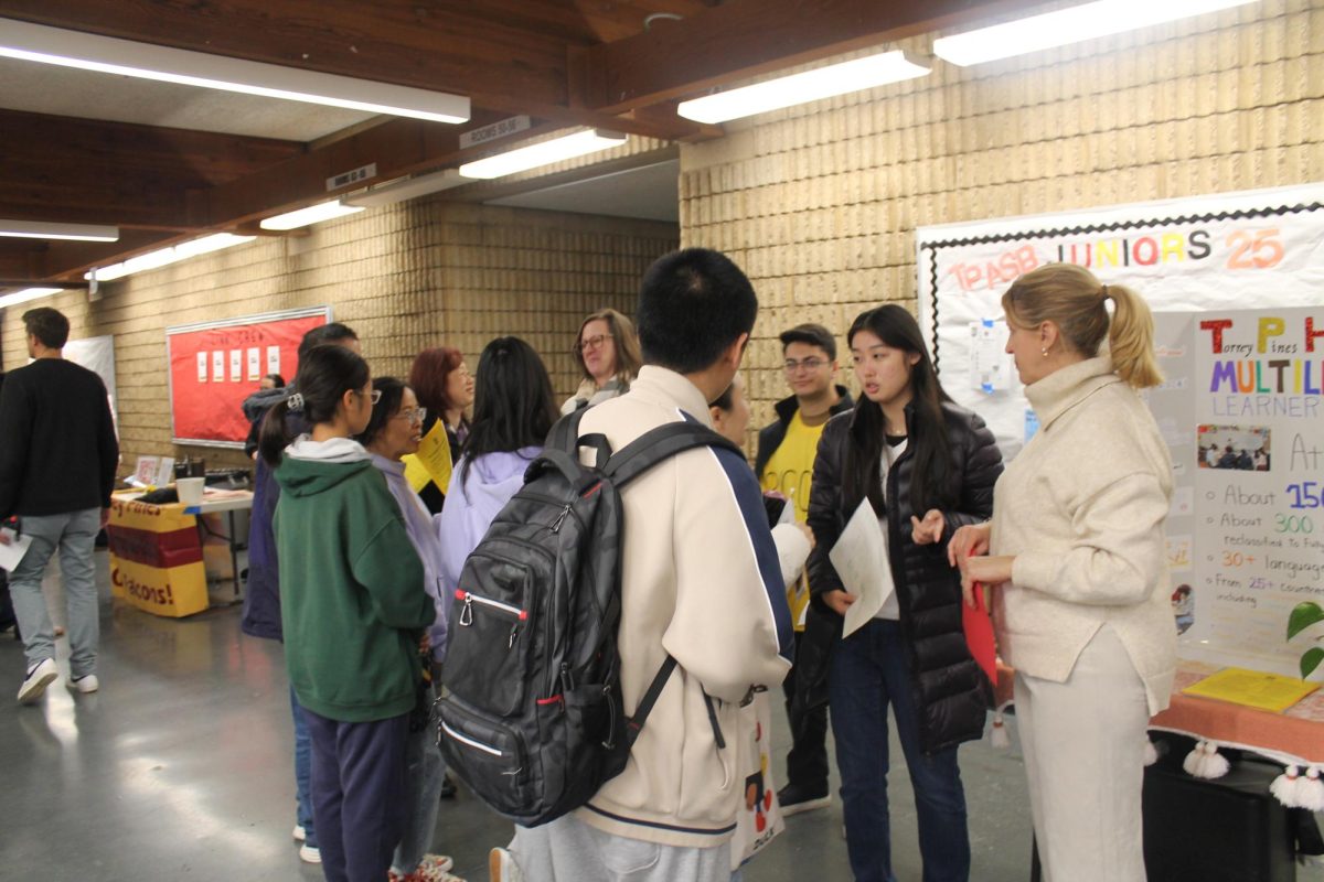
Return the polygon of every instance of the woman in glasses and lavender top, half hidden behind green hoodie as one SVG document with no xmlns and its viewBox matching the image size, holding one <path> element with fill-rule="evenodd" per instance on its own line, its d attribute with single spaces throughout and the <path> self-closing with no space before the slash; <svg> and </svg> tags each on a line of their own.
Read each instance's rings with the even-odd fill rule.
<svg viewBox="0 0 1324 882">
<path fill-rule="evenodd" d="M 395 377 L 377 377 L 372 390 L 381 398 L 372 406 L 368 427 L 359 440 L 372 456 L 372 464 L 387 479 L 387 488 L 396 497 L 405 520 L 409 541 L 422 561 L 424 590 L 437 610 L 437 620 L 428 629 L 428 640 L 420 647 L 424 680 L 420 686 L 416 713 L 409 719 L 409 747 L 405 755 L 408 795 L 405 805 L 404 837 L 391 861 L 391 882 L 401 879 L 430 879 L 432 882 L 459 882 L 450 875 L 453 861 L 444 854 L 428 854 L 433 829 L 437 824 L 438 797 L 445 780 L 446 766 L 437 748 L 437 739 L 428 726 L 428 710 L 436 698 L 433 682 L 446 656 L 446 602 L 441 588 L 441 540 L 433 517 L 422 500 L 405 479 L 406 454 L 418 451 L 422 424 L 428 409 L 418 406 L 413 389 Z"/>
</svg>

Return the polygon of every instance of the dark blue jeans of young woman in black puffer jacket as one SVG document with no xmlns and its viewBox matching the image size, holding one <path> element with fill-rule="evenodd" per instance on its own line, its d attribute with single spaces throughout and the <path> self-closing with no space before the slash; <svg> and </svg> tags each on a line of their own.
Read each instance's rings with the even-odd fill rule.
<svg viewBox="0 0 1324 882">
<path fill-rule="evenodd" d="M 970 840 L 956 748 L 923 754 L 900 623 L 874 619 L 833 649 L 828 680 L 846 850 L 857 882 L 895 882 L 887 817 L 887 706 L 906 755 L 919 816 L 924 882 L 965 882 Z"/>
</svg>

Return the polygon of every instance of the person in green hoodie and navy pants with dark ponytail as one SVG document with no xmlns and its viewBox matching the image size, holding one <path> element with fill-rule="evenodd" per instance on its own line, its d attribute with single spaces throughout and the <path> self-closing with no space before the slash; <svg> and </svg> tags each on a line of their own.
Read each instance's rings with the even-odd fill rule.
<svg viewBox="0 0 1324 882">
<path fill-rule="evenodd" d="M 436 608 L 400 506 L 354 440 L 372 417 L 368 364 L 344 346 L 299 362 L 298 393 L 260 436 L 281 485 L 275 546 L 290 684 L 312 739 L 312 816 L 328 882 L 376 882 L 404 829 L 405 744 Z M 286 438 L 286 415 L 311 431 Z"/>
</svg>

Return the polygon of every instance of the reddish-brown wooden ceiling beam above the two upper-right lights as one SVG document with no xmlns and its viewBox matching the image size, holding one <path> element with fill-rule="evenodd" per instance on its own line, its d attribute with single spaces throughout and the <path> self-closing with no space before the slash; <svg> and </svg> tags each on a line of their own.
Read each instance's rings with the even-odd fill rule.
<svg viewBox="0 0 1324 882">
<path fill-rule="evenodd" d="M 757 74 L 880 46 L 1042 0 L 727 0 L 584 50 L 583 95 L 618 114 Z"/>
</svg>

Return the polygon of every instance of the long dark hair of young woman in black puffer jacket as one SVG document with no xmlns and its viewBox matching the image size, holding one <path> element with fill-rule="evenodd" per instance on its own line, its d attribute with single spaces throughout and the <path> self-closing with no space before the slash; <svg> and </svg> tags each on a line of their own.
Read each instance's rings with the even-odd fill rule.
<svg viewBox="0 0 1324 882">
<path fill-rule="evenodd" d="M 911 468 L 910 501 L 911 509 L 920 517 L 931 508 L 944 509 L 955 502 L 948 480 L 952 468 L 952 443 L 943 417 L 943 403 L 951 398 L 939 382 L 937 372 L 933 370 L 919 323 L 903 307 L 888 303 L 855 317 L 846 335 L 847 345 L 854 345 L 855 335 L 861 331 L 874 333 L 892 349 L 919 356 L 919 361 L 911 369 L 911 417 L 907 421 L 910 435 L 907 450 L 915 458 Z M 847 510 L 854 510 L 867 496 L 874 512 L 879 517 L 883 516 L 882 458 L 886 443 L 883 428 L 882 405 L 861 394 L 855 402 L 850 443 L 846 446 L 846 463 L 842 468 L 842 491 Z"/>
</svg>

